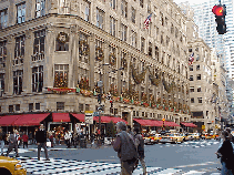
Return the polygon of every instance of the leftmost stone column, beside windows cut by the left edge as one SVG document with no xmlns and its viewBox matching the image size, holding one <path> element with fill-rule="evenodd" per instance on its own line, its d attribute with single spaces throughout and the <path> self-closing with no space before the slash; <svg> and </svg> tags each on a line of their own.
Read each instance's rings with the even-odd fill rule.
<svg viewBox="0 0 234 175">
<path fill-rule="evenodd" d="M 13 94 L 13 72 L 12 72 L 12 60 L 14 58 L 14 44 L 16 39 L 10 35 L 8 37 L 7 43 L 7 60 L 6 60 L 6 85 L 4 93 L 6 95 Z"/>
</svg>

